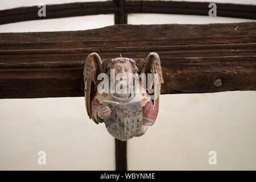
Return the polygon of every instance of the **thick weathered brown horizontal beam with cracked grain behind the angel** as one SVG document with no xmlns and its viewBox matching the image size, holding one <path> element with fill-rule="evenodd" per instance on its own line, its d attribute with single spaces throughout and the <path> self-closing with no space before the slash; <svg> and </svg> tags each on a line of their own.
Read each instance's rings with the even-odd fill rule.
<svg viewBox="0 0 256 182">
<path fill-rule="evenodd" d="M 256 23 L 115 25 L 86 31 L 0 34 L 0 98 L 84 96 L 83 68 L 159 54 L 162 94 L 256 90 Z M 214 85 L 221 80 L 221 86 Z M 220 82 L 220 81 L 219 81 Z"/>
</svg>

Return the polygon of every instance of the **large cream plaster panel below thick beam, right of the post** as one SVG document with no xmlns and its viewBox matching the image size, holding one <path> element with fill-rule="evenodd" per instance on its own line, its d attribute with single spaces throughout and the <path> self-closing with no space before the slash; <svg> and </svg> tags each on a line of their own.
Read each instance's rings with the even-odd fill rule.
<svg viewBox="0 0 256 182">
<path fill-rule="evenodd" d="M 161 96 L 154 125 L 127 143 L 128 169 L 255 170 L 255 101 L 254 91 Z"/>
</svg>

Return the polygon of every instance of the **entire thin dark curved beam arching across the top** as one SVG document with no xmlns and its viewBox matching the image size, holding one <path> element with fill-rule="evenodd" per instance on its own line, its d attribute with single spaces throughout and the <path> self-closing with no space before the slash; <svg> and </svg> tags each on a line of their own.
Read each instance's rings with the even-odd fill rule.
<svg viewBox="0 0 256 182">
<path fill-rule="evenodd" d="M 38 16 L 38 6 L 17 7 L 0 11 L 0 24 L 64 18 L 71 16 L 115 14 L 115 22 L 127 22 L 129 13 L 162 13 L 208 16 L 209 3 L 185 1 L 125 1 L 76 2 L 46 6 L 46 17 Z M 216 3 L 217 16 L 256 19 L 255 5 Z M 120 23 L 121 22 L 121 23 Z"/>
</svg>

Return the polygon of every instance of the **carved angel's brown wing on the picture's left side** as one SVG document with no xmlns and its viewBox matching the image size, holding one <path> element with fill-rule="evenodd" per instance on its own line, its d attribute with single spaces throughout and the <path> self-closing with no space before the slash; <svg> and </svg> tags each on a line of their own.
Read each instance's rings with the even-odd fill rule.
<svg viewBox="0 0 256 182">
<path fill-rule="evenodd" d="M 101 57 L 96 53 L 90 53 L 84 65 L 84 96 L 85 106 L 89 118 L 92 118 L 98 124 L 92 115 L 92 100 L 97 93 L 97 76 L 102 72 L 103 64 Z"/>
</svg>

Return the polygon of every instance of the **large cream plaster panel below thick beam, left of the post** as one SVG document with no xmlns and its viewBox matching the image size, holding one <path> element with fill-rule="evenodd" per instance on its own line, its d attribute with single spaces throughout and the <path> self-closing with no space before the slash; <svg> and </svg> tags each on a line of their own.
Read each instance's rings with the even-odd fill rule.
<svg viewBox="0 0 256 182">
<path fill-rule="evenodd" d="M 0 170 L 115 169 L 114 139 L 89 121 L 84 98 L 5 99 L 0 111 Z"/>
</svg>

